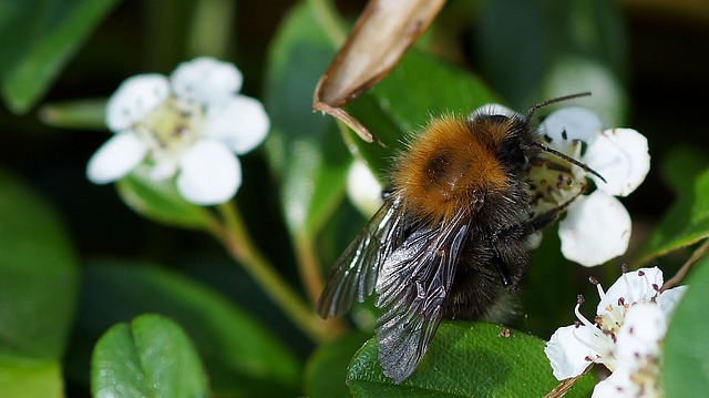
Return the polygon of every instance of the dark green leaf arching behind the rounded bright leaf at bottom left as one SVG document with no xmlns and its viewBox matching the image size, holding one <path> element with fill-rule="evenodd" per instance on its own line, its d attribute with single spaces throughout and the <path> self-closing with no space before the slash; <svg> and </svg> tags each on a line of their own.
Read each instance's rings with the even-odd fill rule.
<svg viewBox="0 0 709 398">
<path fill-rule="evenodd" d="M 144 263 L 96 261 L 85 268 L 80 326 L 102 333 L 116 322 L 158 313 L 179 323 L 203 358 L 215 394 L 295 392 L 298 364 L 273 335 L 214 290 Z"/>
</svg>

